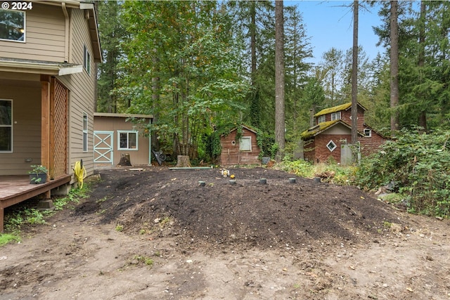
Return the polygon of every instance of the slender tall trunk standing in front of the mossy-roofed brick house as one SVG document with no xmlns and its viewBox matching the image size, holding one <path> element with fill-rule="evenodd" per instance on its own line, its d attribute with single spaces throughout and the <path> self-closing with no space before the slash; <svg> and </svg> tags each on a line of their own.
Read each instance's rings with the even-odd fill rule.
<svg viewBox="0 0 450 300">
<path fill-rule="evenodd" d="M 358 142 L 358 0 L 353 4 L 353 53 L 352 53 L 352 144 Z"/>
</svg>

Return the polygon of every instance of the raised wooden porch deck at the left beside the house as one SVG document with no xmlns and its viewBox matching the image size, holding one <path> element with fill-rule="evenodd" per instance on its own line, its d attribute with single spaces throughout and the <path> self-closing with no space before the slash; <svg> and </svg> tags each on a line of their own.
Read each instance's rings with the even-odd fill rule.
<svg viewBox="0 0 450 300">
<path fill-rule="evenodd" d="M 0 233 L 3 233 L 4 209 L 37 195 L 47 194 L 60 185 L 70 182 L 72 176 L 65 175 L 46 183 L 30 184 L 30 176 L 0 176 Z"/>
</svg>

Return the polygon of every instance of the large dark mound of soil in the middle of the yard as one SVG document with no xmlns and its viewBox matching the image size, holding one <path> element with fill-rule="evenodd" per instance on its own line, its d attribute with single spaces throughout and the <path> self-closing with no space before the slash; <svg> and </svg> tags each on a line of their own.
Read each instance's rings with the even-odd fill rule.
<svg viewBox="0 0 450 300">
<path fill-rule="evenodd" d="M 172 236 L 185 249 L 205 250 L 367 242 L 397 220 L 392 207 L 352 186 L 275 169 L 229 171 L 236 184 L 218 169 L 101 171 L 77 214 L 95 213 L 124 233 Z"/>
</svg>

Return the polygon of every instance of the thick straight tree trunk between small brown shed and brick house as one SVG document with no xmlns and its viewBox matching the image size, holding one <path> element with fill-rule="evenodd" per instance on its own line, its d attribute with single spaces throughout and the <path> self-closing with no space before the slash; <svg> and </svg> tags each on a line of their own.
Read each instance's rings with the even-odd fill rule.
<svg viewBox="0 0 450 300">
<path fill-rule="evenodd" d="M 278 143 L 276 161 L 284 155 L 285 107 L 284 107 L 284 54 L 283 54 L 283 0 L 275 1 L 275 141 Z"/>
</svg>

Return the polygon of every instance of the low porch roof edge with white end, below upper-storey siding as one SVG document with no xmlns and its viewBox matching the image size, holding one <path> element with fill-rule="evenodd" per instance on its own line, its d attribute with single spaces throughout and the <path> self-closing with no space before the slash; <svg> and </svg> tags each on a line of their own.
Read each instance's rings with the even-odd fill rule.
<svg viewBox="0 0 450 300">
<path fill-rule="evenodd" d="M 83 66 L 41 60 L 0 58 L 0 71 L 63 76 L 81 73 L 83 72 Z"/>
</svg>

